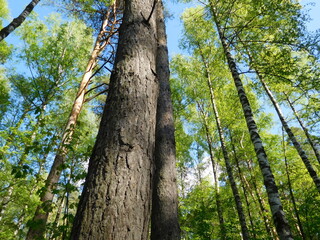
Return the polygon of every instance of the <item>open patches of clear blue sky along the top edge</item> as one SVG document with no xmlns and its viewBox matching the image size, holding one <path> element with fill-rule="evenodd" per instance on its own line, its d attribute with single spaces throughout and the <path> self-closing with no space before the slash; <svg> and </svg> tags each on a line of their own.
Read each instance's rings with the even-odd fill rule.
<svg viewBox="0 0 320 240">
<path fill-rule="evenodd" d="M 317 1 L 317 2 L 316 2 Z M 11 17 L 18 16 L 25 6 L 30 2 L 30 0 L 8 0 L 9 9 L 11 12 Z M 168 47 L 170 56 L 181 53 L 179 49 L 179 39 L 182 34 L 182 24 L 180 16 L 185 8 L 189 7 L 190 4 L 176 3 L 177 1 L 166 0 L 166 6 L 170 13 L 173 14 L 174 18 L 167 21 L 167 34 L 168 34 Z M 319 0 L 302 0 L 303 5 L 310 2 L 316 2 L 314 6 L 308 6 L 310 8 L 310 15 L 312 21 L 308 24 L 310 30 L 315 30 L 320 28 L 320 2 Z M 40 2 L 41 3 L 41 2 Z M 53 9 L 45 7 L 42 4 L 35 8 L 35 11 L 40 14 L 40 16 L 47 16 Z M 8 42 L 15 41 L 14 36 L 8 39 Z"/>
</svg>

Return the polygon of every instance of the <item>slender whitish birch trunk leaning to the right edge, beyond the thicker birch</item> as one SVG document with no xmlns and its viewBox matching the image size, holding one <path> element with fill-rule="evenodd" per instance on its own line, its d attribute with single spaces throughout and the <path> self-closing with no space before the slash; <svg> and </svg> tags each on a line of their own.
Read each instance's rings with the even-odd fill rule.
<svg viewBox="0 0 320 240">
<path fill-rule="evenodd" d="M 278 116 L 279 119 L 282 123 L 283 128 L 285 129 L 286 133 L 288 134 L 293 146 L 295 147 L 295 149 L 297 150 L 297 152 L 299 153 L 299 156 L 301 157 L 304 165 L 306 166 L 309 175 L 311 176 L 311 178 L 313 179 L 314 184 L 316 185 L 316 188 L 318 189 L 318 191 L 320 192 L 320 178 L 318 177 L 316 171 L 314 170 L 306 152 L 302 149 L 300 143 L 298 142 L 297 138 L 295 137 L 295 135 L 293 134 L 293 132 L 291 131 L 288 123 L 286 122 L 286 120 L 284 119 L 284 116 L 282 114 L 282 111 L 280 109 L 279 104 L 277 103 L 276 99 L 273 97 L 272 92 L 270 91 L 268 85 L 266 84 L 266 82 L 264 81 L 263 77 L 261 76 L 261 74 L 259 73 L 259 71 L 256 70 L 256 73 L 260 79 L 260 82 L 263 85 L 263 88 L 265 89 L 266 93 L 268 94 L 268 97 L 270 99 L 270 101 L 272 102 Z"/>
</svg>

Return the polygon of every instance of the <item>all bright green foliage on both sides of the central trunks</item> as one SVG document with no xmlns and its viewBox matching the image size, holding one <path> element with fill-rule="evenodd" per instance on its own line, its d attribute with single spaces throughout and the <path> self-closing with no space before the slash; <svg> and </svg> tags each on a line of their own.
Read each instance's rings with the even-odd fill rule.
<svg viewBox="0 0 320 240">
<path fill-rule="evenodd" d="M 0 69 L 0 239 L 23 239 L 28 227 L 37 225 L 32 217 L 92 49 L 92 35 L 113 3 L 54 1 L 75 19 L 66 21 L 52 15 L 43 21 L 33 16 L 17 31 L 21 45 L 0 43 L 0 62 L 5 63 Z M 319 193 L 295 148 L 282 135 L 256 73 L 270 86 L 319 172 L 313 149 L 287 101 L 293 102 L 319 149 L 318 34 L 307 32 L 307 16 L 298 1 L 212 0 L 198 5 L 182 15 L 180 47 L 186 55 L 171 60 L 182 238 L 241 238 L 222 161 L 210 82 L 251 238 L 277 239 L 254 148 L 213 21 L 211 8 L 215 8 L 238 64 L 294 238 L 316 239 L 320 234 Z M 8 16 L 6 1 L 0 0 L 0 6 L 2 27 L 2 19 Z M 104 56 L 101 60 L 105 61 Z M 105 75 L 102 71 L 95 76 L 90 87 L 97 88 L 87 92 L 87 99 L 105 90 L 109 79 Z M 104 101 L 105 95 L 100 95 L 85 103 L 73 138 L 66 145 L 62 177 L 48 206 L 46 239 L 70 237 Z"/>
</svg>

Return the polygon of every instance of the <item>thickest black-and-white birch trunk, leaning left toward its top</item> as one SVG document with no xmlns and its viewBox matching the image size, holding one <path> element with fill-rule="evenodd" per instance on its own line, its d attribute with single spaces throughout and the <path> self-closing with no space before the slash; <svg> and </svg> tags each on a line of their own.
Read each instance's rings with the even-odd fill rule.
<svg viewBox="0 0 320 240">
<path fill-rule="evenodd" d="M 264 150 L 262 140 L 258 132 L 257 124 L 253 119 L 251 105 L 249 103 L 248 97 L 244 90 L 240 75 L 237 70 L 236 63 L 227 45 L 227 40 L 222 33 L 219 21 L 215 13 L 215 8 L 212 5 L 212 2 L 211 2 L 211 12 L 218 30 L 219 38 L 220 38 L 225 56 L 227 58 L 227 63 L 228 63 L 230 72 L 232 74 L 232 77 L 238 92 L 239 100 L 242 105 L 243 113 L 245 116 L 249 133 L 250 133 L 250 138 L 254 145 L 254 150 L 258 158 L 259 166 L 264 179 L 264 185 L 266 186 L 266 190 L 268 193 L 268 200 L 269 200 L 269 205 L 271 208 L 274 224 L 276 226 L 278 235 L 281 240 L 293 240 L 288 220 L 286 219 L 285 213 L 283 211 L 282 203 L 281 203 L 279 192 L 278 192 L 278 187 L 275 183 L 275 179 L 270 168 L 267 154 Z"/>
</svg>

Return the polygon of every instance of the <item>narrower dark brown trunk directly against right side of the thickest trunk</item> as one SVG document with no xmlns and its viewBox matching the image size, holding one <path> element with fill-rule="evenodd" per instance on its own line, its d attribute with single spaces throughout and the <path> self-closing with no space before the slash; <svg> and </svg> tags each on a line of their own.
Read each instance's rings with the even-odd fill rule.
<svg viewBox="0 0 320 240">
<path fill-rule="evenodd" d="M 156 116 L 155 173 L 151 240 L 178 240 L 178 192 L 174 120 L 169 83 L 169 59 L 162 1 L 157 2 L 157 57 L 159 97 Z"/>
</svg>

